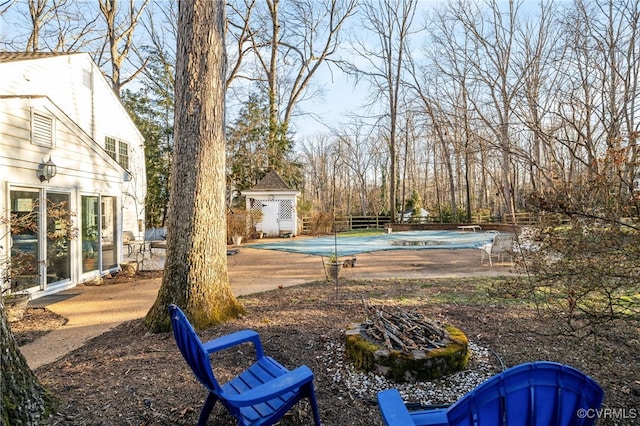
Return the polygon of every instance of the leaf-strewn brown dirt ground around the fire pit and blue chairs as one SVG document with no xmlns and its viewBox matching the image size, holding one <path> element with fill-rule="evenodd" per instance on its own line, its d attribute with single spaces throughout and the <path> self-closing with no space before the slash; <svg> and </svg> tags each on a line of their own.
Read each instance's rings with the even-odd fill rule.
<svg viewBox="0 0 640 426">
<path fill-rule="evenodd" d="M 428 403 L 451 403 L 464 390 L 461 379 L 474 372 L 493 374 L 503 366 L 534 360 L 572 365 L 605 389 L 604 407 L 627 418 L 604 418 L 602 425 L 637 424 L 640 416 L 640 342 L 638 329 L 616 326 L 605 337 L 558 336 L 557 321 L 543 319 L 522 303 L 494 296 L 496 278 L 345 280 L 314 282 L 241 298 L 243 318 L 201 334 L 208 340 L 243 328 L 260 333 L 267 354 L 289 368 L 308 365 L 315 375 L 320 415 L 326 425 L 382 424 L 375 396 L 381 390 L 372 375 L 354 372 L 345 359 L 344 332 L 363 318 L 362 299 L 401 305 L 449 322 L 482 348 L 468 371 L 429 384 Z M 113 284 L 122 285 L 122 284 Z M 64 319 L 46 309 L 30 310 L 12 325 L 18 340 L 28 341 Z M 249 348 L 214 359 L 217 374 L 230 377 Z M 60 398 L 47 425 L 193 425 L 206 396 L 181 358 L 171 334 L 150 335 L 139 321 L 124 323 L 36 370 Z M 365 383 L 366 385 L 364 385 Z M 455 383 L 455 384 L 454 384 Z M 216 406 L 209 424 L 234 424 Z M 312 424 L 308 406 L 299 404 L 282 425 Z"/>
</svg>

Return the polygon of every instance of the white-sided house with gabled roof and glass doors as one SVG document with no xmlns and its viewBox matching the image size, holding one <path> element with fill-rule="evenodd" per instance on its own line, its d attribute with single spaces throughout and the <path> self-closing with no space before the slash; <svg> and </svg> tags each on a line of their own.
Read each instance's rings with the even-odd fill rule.
<svg viewBox="0 0 640 426">
<path fill-rule="evenodd" d="M 0 224 L 0 277 L 40 297 L 118 270 L 144 235 L 142 135 L 86 53 L 0 52 L 0 76 L 0 214 L 33 222 Z"/>
</svg>

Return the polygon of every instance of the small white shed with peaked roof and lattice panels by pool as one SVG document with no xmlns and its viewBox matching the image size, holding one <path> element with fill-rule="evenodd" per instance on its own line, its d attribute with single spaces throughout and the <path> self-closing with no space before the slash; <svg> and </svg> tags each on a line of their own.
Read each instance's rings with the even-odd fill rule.
<svg viewBox="0 0 640 426">
<path fill-rule="evenodd" d="M 298 233 L 297 199 L 299 191 L 291 189 L 282 177 L 271 170 L 252 189 L 242 191 L 247 211 L 262 213 L 256 231 L 265 237 L 290 236 Z"/>
</svg>

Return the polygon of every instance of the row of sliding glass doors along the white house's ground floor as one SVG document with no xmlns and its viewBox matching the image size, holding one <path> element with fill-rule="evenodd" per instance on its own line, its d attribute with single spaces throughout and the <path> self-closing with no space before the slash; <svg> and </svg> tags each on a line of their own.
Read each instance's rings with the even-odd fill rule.
<svg viewBox="0 0 640 426">
<path fill-rule="evenodd" d="M 68 283 L 74 271 L 118 266 L 116 197 L 83 195 L 74 210 L 71 199 L 71 192 L 11 189 L 9 275 L 14 290 L 45 290 Z"/>
</svg>

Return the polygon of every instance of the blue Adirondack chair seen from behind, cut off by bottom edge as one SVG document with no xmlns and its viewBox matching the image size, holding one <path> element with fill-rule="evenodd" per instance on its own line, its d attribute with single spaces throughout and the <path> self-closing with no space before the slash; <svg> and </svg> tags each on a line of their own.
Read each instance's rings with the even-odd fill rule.
<svg viewBox="0 0 640 426">
<path fill-rule="evenodd" d="M 531 362 L 503 371 L 448 408 L 409 412 L 396 389 L 378 394 L 385 424 L 593 425 L 604 391 L 591 377 L 555 362 Z"/>
</svg>

